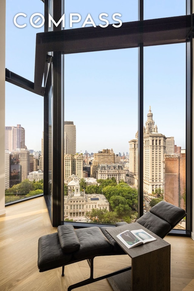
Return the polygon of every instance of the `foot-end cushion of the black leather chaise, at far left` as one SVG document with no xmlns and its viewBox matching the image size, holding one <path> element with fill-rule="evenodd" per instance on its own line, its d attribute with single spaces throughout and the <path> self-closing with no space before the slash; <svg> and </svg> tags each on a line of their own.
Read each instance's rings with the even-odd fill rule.
<svg viewBox="0 0 194 291">
<path fill-rule="evenodd" d="M 72 253 L 64 253 L 58 233 L 41 236 L 38 240 L 38 269 L 44 272 L 65 265 L 72 259 Z"/>
</svg>

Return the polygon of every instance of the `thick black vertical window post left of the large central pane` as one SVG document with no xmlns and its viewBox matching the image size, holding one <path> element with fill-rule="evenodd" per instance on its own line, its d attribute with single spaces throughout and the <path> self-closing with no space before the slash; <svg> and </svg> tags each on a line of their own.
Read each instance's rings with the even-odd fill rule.
<svg viewBox="0 0 194 291">
<path fill-rule="evenodd" d="M 64 1 L 53 1 L 53 19 L 64 14 Z M 53 31 L 62 27 L 53 25 Z M 52 226 L 64 220 L 64 55 L 53 52 L 53 115 L 52 115 Z"/>
</svg>

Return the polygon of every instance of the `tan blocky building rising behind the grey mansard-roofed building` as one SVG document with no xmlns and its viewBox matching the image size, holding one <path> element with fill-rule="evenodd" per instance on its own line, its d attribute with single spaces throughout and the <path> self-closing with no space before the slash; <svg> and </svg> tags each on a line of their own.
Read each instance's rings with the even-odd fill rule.
<svg viewBox="0 0 194 291">
<path fill-rule="evenodd" d="M 114 164 L 115 154 L 113 149 L 103 149 L 102 152 L 94 153 L 94 159 L 91 165 L 91 177 L 96 178 L 96 170 L 101 164 Z"/>
</svg>

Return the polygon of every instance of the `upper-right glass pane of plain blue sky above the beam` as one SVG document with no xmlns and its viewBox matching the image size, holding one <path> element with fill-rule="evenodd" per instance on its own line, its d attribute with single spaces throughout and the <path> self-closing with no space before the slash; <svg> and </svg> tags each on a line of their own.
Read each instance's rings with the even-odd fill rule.
<svg viewBox="0 0 194 291">
<path fill-rule="evenodd" d="M 185 0 L 144 0 L 144 19 L 164 18 L 186 14 Z"/>
</svg>

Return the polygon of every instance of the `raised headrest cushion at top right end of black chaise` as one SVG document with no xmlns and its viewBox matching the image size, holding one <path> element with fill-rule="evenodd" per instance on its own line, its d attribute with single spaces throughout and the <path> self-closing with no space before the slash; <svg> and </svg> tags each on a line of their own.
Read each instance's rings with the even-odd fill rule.
<svg viewBox="0 0 194 291">
<path fill-rule="evenodd" d="M 160 201 L 150 209 L 150 212 L 166 220 L 174 227 L 186 215 L 184 209 L 174 206 L 166 201 Z"/>
</svg>

